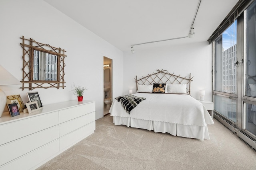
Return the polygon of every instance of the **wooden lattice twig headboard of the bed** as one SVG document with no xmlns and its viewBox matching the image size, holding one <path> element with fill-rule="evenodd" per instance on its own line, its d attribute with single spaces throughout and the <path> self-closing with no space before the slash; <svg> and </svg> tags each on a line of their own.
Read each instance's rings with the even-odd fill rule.
<svg viewBox="0 0 256 170">
<path fill-rule="evenodd" d="M 190 82 L 192 82 L 191 74 L 189 74 L 189 78 L 182 77 L 180 75 L 174 75 L 174 73 L 170 74 L 167 70 L 156 70 L 157 72 L 153 74 L 148 74 L 147 76 L 142 76 L 142 78 L 135 79 L 136 82 L 136 90 L 138 90 L 138 85 L 150 85 L 154 83 L 166 83 L 166 84 L 187 84 L 187 94 L 190 94 Z"/>
</svg>

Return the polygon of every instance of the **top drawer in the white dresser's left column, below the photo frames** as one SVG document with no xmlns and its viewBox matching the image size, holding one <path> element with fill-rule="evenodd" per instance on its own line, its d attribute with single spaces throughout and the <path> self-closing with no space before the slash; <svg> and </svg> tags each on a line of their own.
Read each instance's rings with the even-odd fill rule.
<svg viewBox="0 0 256 170">
<path fill-rule="evenodd" d="M 0 145 L 58 125 L 58 111 L 0 125 Z"/>
</svg>

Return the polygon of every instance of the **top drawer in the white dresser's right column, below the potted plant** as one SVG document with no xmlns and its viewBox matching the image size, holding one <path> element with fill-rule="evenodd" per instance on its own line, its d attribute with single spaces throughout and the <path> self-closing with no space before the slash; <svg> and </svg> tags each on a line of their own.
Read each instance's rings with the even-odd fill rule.
<svg viewBox="0 0 256 170">
<path fill-rule="evenodd" d="M 65 121 L 69 121 L 71 119 L 75 119 L 76 117 L 80 117 L 82 115 L 86 115 L 88 113 L 91 113 L 95 111 L 95 102 L 85 104 L 85 105 L 79 105 L 76 107 L 71 107 L 68 109 L 60 110 L 60 123 L 63 123 Z"/>
</svg>

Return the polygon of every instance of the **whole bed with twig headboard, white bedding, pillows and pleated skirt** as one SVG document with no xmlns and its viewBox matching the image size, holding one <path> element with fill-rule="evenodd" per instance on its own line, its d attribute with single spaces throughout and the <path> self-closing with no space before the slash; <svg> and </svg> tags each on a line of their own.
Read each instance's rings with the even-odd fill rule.
<svg viewBox="0 0 256 170">
<path fill-rule="evenodd" d="M 190 96 L 189 78 L 174 75 L 167 70 L 156 70 L 137 79 L 137 92 L 115 98 L 110 115 L 115 125 L 126 125 L 174 136 L 210 139 L 208 124 L 213 124 L 206 108 Z M 125 98 L 126 97 L 126 98 Z M 136 106 L 124 109 L 121 101 L 130 97 Z M 137 102 L 141 99 L 140 102 Z M 129 106 L 130 108 L 130 106 Z"/>
</svg>

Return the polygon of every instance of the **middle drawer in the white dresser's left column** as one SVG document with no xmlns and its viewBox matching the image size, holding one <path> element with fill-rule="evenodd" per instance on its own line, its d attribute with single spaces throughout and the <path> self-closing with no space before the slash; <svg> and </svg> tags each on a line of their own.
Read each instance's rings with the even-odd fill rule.
<svg viewBox="0 0 256 170">
<path fill-rule="evenodd" d="M 58 139 L 58 125 L 0 146 L 0 166 Z"/>
</svg>

